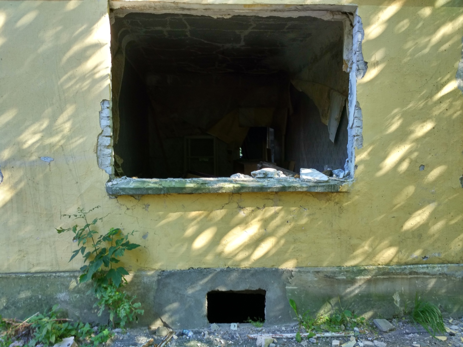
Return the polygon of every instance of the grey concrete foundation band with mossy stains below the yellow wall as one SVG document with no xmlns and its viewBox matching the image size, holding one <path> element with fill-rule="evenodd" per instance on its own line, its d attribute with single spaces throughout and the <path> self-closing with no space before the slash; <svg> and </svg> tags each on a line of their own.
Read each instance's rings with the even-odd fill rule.
<svg viewBox="0 0 463 347">
<path fill-rule="evenodd" d="M 366 318 L 403 314 L 416 294 L 432 300 L 444 316 L 463 314 L 463 264 L 318 268 L 218 268 L 136 272 L 127 290 L 142 302 L 141 324 L 201 328 L 207 320 L 206 296 L 211 291 L 265 291 L 265 321 L 295 321 L 288 299 L 313 314 L 339 308 Z M 96 315 L 91 285 L 79 274 L 0 274 L 0 314 L 26 318 L 58 303 L 70 318 L 106 322 Z"/>
</svg>

